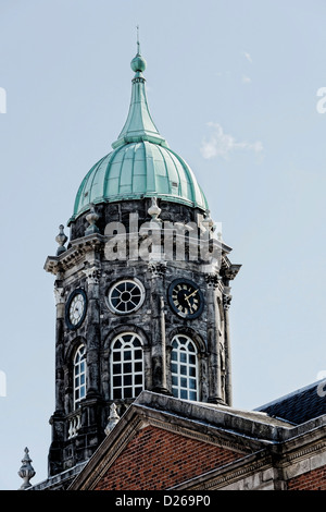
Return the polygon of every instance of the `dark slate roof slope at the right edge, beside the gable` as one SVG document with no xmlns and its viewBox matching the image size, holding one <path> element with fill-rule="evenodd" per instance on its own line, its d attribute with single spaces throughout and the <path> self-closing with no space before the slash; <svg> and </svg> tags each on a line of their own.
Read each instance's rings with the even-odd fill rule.
<svg viewBox="0 0 326 512">
<path fill-rule="evenodd" d="M 272 417 L 300 425 L 326 414 L 326 379 L 313 382 L 273 402 L 256 407 Z"/>
</svg>

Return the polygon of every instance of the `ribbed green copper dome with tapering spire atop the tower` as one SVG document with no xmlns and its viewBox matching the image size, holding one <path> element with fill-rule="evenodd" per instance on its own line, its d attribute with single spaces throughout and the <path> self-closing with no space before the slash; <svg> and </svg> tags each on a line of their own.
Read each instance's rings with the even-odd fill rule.
<svg viewBox="0 0 326 512">
<path fill-rule="evenodd" d="M 84 178 L 68 223 L 91 204 L 158 197 L 208 209 L 206 199 L 186 161 L 160 135 L 147 102 L 139 51 L 131 61 L 136 73 L 125 125 L 112 144 L 113 151 L 98 161 Z"/>
</svg>

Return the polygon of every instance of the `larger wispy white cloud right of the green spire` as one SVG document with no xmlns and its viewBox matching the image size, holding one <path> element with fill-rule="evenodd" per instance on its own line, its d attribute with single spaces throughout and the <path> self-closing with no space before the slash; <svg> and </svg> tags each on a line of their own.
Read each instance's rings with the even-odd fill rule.
<svg viewBox="0 0 326 512">
<path fill-rule="evenodd" d="M 213 133 L 208 139 L 202 142 L 200 151 L 205 159 L 215 157 L 227 158 L 235 150 L 250 150 L 261 153 L 263 145 L 260 141 L 255 143 L 237 142 L 233 135 L 224 133 L 223 127 L 218 123 L 208 123 L 213 129 Z"/>
</svg>

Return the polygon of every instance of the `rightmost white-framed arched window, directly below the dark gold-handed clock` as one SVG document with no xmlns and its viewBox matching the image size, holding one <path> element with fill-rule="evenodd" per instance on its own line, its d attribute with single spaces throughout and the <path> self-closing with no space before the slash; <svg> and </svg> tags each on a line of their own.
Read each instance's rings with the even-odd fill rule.
<svg viewBox="0 0 326 512">
<path fill-rule="evenodd" d="M 185 400 L 198 400 L 198 361 L 193 341 L 177 334 L 172 341 L 172 393 Z"/>
</svg>

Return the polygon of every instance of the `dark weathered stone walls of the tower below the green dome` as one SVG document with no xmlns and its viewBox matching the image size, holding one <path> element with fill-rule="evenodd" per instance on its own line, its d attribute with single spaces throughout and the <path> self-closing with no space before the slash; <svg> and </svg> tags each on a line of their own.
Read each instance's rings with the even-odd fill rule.
<svg viewBox="0 0 326 512">
<path fill-rule="evenodd" d="M 158 214 L 153 215 L 155 209 L 151 209 L 153 204 L 160 206 L 159 219 Z M 216 239 L 204 212 L 177 203 L 162 202 L 159 206 L 142 199 L 95 207 L 72 222 L 67 249 L 61 245 L 60 254 L 47 259 L 46 270 L 55 275 L 57 300 L 57 391 L 55 412 L 50 420 L 50 475 L 91 456 L 104 438 L 113 399 L 121 415 L 140 391 L 138 388 L 129 398 L 118 398 L 117 391 L 116 398 L 112 390 L 112 343 L 124 333 L 136 334 L 141 341 L 141 389 L 173 394 L 172 343 L 176 336 L 185 336 L 196 346 L 196 399 L 231 404 L 229 281 L 240 266 L 230 264 L 230 247 Z M 135 257 L 135 243 L 146 248 L 151 245 L 153 222 L 158 225 L 159 244 L 142 257 Z M 151 229 L 145 230 L 143 225 Z M 183 229 L 185 225 L 192 227 L 191 236 Z M 121 239 L 113 228 L 122 230 Z M 206 233 L 208 247 L 215 244 L 218 249 L 220 258 L 213 263 L 199 246 L 202 232 Z M 166 255 L 166 240 L 171 236 L 175 236 L 173 251 Z M 115 242 L 121 252 L 115 259 L 111 252 L 108 259 L 106 244 L 111 243 L 112 248 Z M 113 308 L 109 297 L 112 287 L 126 280 L 136 283 L 143 297 L 140 307 L 122 314 Z M 168 289 L 177 280 L 196 284 L 195 292 L 199 290 L 202 297 L 200 315 L 187 318 L 172 308 Z M 85 312 L 82 321 L 72 326 L 67 308 L 76 291 L 85 297 Z M 76 406 L 74 357 L 80 345 L 85 348 L 86 391 Z"/>
</svg>

